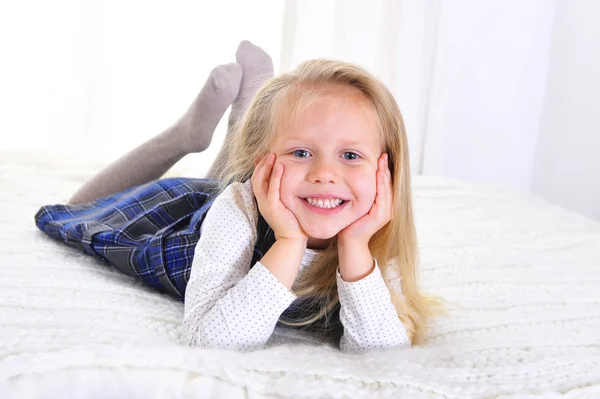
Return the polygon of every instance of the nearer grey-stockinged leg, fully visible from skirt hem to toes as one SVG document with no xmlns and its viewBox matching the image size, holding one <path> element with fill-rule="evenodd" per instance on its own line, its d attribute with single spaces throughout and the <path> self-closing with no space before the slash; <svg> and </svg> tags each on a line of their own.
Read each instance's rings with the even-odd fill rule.
<svg viewBox="0 0 600 399">
<path fill-rule="evenodd" d="M 200 94 L 175 125 L 100 171 L 69 203 L 90 202 L 158 179 L 185 155 L 204 151 L 219 120 L 238 96 L 242 73 L 237 63 L 213 69 Z"/>
</svg>

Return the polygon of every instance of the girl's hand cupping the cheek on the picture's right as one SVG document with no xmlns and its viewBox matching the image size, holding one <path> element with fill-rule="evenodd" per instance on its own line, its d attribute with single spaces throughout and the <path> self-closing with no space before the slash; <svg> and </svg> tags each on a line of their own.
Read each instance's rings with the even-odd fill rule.
<svg viewBox="0 0 600 399">
<path fill-rule="evenodd" d="M 371 237 L 385 226 L 393 216 L 392 173 L 388 167 L 388 155 L 382 154 L 377 161 L 377 192 L 369 212 L 338 233 L 340 244 L 368 244 Z"/>
</svg>

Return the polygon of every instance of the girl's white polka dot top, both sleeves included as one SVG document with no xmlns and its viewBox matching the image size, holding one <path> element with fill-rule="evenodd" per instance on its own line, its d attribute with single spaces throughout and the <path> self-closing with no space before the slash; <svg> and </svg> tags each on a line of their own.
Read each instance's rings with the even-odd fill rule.
<svg viewBox="0 0 600 399">
<path fill-rule="evenodd" d="M 233 183 L 214 201 L 201 227 L 185 292 L 183 341 L 192 346 L 248 351 L 262 348 L 296 299 L 264 265 L 250 268 L 258 209 L 250 181 Z M 307 249 L 298 276 L 321 251 Z M 388 279 L 399 289 L 399 278 Z M 371 274 L 337 286 L 343 352 L 410 346 L 377 262 Z"/>
</svg>

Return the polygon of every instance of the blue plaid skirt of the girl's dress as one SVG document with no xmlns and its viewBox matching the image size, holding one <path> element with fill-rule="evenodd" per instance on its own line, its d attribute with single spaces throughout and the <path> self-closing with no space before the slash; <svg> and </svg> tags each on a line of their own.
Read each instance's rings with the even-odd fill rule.
<svg viewBox="0 0 600 399">
<path fill-rule="evenodd" d="M 87 204 L 43 206 L 37 227 L 183 300 L 215 181 L 170 178 Z"/>
</svg>

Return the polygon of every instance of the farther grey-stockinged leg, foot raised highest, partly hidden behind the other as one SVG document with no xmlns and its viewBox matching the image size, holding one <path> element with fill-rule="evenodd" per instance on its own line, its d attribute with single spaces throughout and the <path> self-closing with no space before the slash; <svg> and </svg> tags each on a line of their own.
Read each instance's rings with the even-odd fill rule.
<svg viewBox="0 0 600 399">
<path fill-rule="evenodd" d="M 235 60 L 242 66 L 244 71 L 240 93 L 231 106 L 229 124 L 225 136 L 225 145 L 221 148 L 212 164 L 207 177 L 217 178 L 223 165 L 227 164 L 229 158 L 227 143 L 235 140 L 235 126 L 244 115 L 250 101 L 265 82 L 273 77 L 273 61 L 269 54 L 263 49 L 247 40 L 240 43 Z"/>
</svg>

